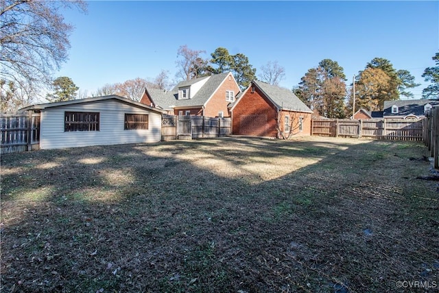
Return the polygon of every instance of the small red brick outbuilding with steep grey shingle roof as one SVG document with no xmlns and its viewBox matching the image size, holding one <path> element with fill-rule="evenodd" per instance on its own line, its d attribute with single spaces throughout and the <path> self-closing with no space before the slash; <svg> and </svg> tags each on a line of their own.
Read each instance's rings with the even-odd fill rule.
<svg viewBox="0 0 439 293">
<path fill-rule="evenodd" d="M 311 114 L 292 91 L 252 81 L 231 107 L 233 134 L 288 138 L 311 134 Z"/>
</svg>

